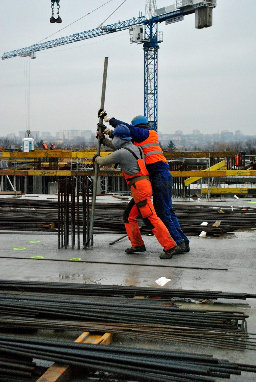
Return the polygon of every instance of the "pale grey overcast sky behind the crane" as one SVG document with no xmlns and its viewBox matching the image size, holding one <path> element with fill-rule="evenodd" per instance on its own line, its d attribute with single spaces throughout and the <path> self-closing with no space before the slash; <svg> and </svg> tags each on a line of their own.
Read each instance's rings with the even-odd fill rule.
<svg viewBox="0 0 256 382">
<path fill-rule="evenodd" d="M 51 24 L 50 0 L 0 0 L 0 56 L 101 23 L 131 19 L 139 11 L 145 14 L 145 0 L 126 0 L 123 5 L 124 0 L 112 0 L 92 12 L 106 1 L 60 0 L 62 24 Z M 175 0 L 156 2 L 161 8 Z M 207 134 L 239 129 L 256 134 L 256 1 L 217 0 L 210 28 L 196 29 L 194 18 L 192 14 L 175 24 L 158 25 L 158 31 L 163 31 L 158 50 L 158 132 L 189 134 L 199 129 Z M 0 62 L 0 136 L 28 127 L 52 134 L 62 129 L 95 129 L 105 56 L 109 57 L 106 111 L 126 122 L 143 114 L 143 49 L 130 44 L 128 30 L 47 49 L 36 56 L 36 60 L 14 57 Z"/>
</svg>

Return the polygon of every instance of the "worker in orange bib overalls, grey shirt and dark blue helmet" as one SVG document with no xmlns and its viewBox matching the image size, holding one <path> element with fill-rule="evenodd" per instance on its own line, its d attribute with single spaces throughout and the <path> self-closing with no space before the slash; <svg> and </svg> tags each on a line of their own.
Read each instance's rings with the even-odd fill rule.
<svg viewBox="0 0 256 382">
<path fill-rule="evenodd" d="M 105 129 L 106 126 L 104 126 Z M 92 160 L 98 165 L 119 163 L 132 194 L 132 199 L 124 211 L 124 225 L 132 244 L 125 250 L 126 253 L 146 251 L 136 220 L 139 214 L 146 227 L 153 232 L 165 249 L 165 253 L 168 255 L 166 258 L 171 259 L 173 255 L 181 253 L 179 246 L 155 212 L 151 201 L 152 186 L 145 167 L 145 157 L 142 149 L 132 144 L 129 128 L 125 125 L 117 126 L 113 131 L 113 140 L 104 138 L 104 133 L 97 133 L 97 135 L 101 139 L 100 142 L 113 149 L 114 153 L 107 157 L 95 154 Z"/>
</svg>

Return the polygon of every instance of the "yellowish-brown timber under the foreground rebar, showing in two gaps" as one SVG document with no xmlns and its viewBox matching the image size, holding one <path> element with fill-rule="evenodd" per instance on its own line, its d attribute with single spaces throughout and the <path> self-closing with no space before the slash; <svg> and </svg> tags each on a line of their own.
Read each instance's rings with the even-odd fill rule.
<svg viewBox="0 0 256 382">
<path fill-rule="evenodd" d="M 109 345 L 114 337 L 111 333 L 83 332 L 75 342 Z M 69 382 L 73 378 L 74 370 L 73 366 L 54 363 L 36 382 Z"/>
</svg>

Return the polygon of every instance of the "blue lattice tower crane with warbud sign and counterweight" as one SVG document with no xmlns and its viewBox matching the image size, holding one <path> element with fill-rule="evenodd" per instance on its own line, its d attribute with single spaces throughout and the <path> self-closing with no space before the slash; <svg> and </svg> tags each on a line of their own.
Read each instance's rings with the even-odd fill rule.
<svg viewBox="0 0 256 382">
<path fill-rule="evenodd" d="M 195 13 L 195 27 L 212 26 L 212 9 L 217 0 L 176 0 L 175 5 L 157 9 L 156 0 L 146 0 L 145 16 L 139 15 L 126 21 L 99 26 L 89 31 L 75 33 L 59 39 L 34 44 L 26 48 L 3 53 L 2 60 L 23 56 L 36 58 L 36 52 L 105 34 L 129 29 L 130 43 L 143 44 L 144 50 L 144 115 L 152 129 L 157 131 L 157 54 L 163 33 L 158 32 L 158 23 L 182 21 L 184 16 Z"/>
</svg>

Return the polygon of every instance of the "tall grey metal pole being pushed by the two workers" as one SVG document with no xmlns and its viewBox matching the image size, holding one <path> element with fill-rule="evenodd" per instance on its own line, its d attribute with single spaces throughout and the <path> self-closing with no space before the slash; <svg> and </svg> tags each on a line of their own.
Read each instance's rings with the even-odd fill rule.
<svg viewBox="0 0 256 382">
<path fill-rule="evenodd" d="M 104 109 L 105 102 L 105 94 L 106 94 L 106 81 L 107 81 L 107 71 L 108 71 L 108 57 L 105 57 L 104 60 L 104 71 L 103 71 L 103 82 L 102 82 L 102 91 L 101 91 L 101 105 L 100 108 Z M 99 124 L 102 124 L 103 118 L 99 118 Z M 101 133 L 101 128 L 99 128 L 99 132 Z M 99 155 L 100 153 L 100 142 L 99 139 L 97 141 L 97 151 L 96 153 Z M 98 171 L 99 165 L 95 163 L 95 173 L 94 173 L 94 182 L 93 182 L 93 194 L 91 197 L 91 220 L 90 220 L 90 229 L 88 235 L 88 241 L 91 240 L 91 245 L 93 245 L 93 222 L 94 222 L 94 214 L 95 214 L 95 202 L 96 202 L 96 194 L 97 194 L 97 183 L 98 183 Z"/>
</svg>

